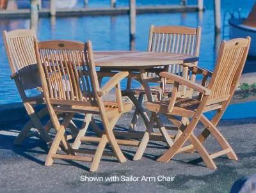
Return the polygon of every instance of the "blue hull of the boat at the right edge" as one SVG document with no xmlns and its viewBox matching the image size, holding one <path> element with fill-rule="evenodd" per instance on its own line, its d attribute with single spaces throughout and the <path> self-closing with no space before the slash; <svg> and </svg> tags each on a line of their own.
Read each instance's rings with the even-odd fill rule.
<svg viewBox="0 0 256 193">
<path fill-rule="evenodd" d="M 252 42 L 250 45 L 249 56 L 256 57 L 256 27 L 250 27 L 243 25 L 244 19 L 230 19 L 229 23 L 229 36 L 233 38 L 246 38 L 250 36 Z"/>
</svg>

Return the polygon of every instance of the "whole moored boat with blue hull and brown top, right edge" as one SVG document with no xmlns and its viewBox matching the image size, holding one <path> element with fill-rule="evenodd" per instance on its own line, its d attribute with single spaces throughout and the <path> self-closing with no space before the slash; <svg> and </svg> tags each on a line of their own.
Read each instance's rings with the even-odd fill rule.
<svg viewBox="0 0 256 193">
<path fill-rule="evenodd" d="M 252 38 L 249 55 L 256 56 L 256 3 L 247 18 L 231 17 L 228 24 L 230 38 Z"/>
</svg>

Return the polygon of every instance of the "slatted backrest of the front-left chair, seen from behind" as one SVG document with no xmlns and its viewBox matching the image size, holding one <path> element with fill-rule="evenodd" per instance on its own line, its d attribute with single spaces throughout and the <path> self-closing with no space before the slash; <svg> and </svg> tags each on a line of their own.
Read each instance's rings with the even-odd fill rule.
<svg viewBox="0 0 256 193">
<path fill-rule="evenodd" d="M 42 88 L 51 104 L 97 105 L 99 90 L 90 42 L 52 40 L 35 44 Z"/>
</svg>

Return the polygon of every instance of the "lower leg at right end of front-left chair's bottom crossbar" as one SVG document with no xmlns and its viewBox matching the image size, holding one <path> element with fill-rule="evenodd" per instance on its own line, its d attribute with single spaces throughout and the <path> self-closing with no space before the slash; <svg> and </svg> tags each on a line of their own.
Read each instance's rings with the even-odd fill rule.
<svg viewBox="0 0 256 193">
<path fill-rule="evenodd" d="M 107 135 L 104 134 L 101 137 L 99 146 L 97 147 L 97 150 L 96 150 L 95 155 L 93 157 L 92 167 L 91 167 L 90 171 L 93 172 L 93 171 L 96 171 L 98 169 L 99 164 L 100 164 L 100 159 L 102 157 L 102 153 L 103 153 L 107 143 L 108 143 L 108 137 L 107 137 Z"/>
</svg>

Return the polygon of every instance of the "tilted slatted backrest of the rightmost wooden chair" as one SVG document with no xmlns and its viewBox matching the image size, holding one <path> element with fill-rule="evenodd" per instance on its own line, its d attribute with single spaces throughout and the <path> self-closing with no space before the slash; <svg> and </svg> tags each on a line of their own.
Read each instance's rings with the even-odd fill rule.
<svg viewBox="0 0 256 193">
<path fill-rule="evenodd" d="M 251 38 L 221 42 L 216 67 L 208 88 L 212 93 L 207 104 L 224 102 L 234 94 L 248 55 Z"/>
</svg>

